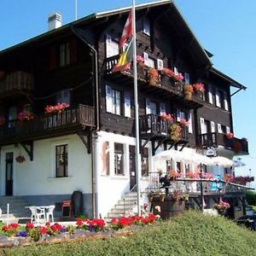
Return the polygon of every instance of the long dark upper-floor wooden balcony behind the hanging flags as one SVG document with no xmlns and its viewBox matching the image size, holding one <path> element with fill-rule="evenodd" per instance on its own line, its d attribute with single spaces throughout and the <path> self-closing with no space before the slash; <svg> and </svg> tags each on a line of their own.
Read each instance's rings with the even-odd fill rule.
<svg viewBox="0 0 256 256">
<path fill-rule="evenodd" d="M 105 76 L 114 82 L 132 85 L 133 84 L 133 67 L 125 71 L 112 72 L 113 67 L 118 61 L 119 55 L 112 56 L 105 60 Z M 147 91 L 154 96 L 160 96 L 172 102 L 178 102 L 183 108 L 201 108 L 203 99 L 200 94 L 192 96 L 191 100 L 186 100 L 183 96 L 183 82 L 175 81 L 166 75 L 159 75 L 155 84 L 150 84 L 148 79 L 148 67 L 137 65 L 137 82 L 138 89 Z"/>
</svg>

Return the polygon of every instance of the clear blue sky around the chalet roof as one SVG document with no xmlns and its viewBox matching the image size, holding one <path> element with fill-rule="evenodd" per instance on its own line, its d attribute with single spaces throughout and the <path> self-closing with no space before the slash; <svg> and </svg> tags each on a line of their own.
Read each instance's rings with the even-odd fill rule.
<svg viewBox="0 0 256 256">
<path fill-rule="evenodd" d="M 0 50 L 47 31 L 49 14 L 58 11 L 62 24 L 74 20 L 75 0 L 0 0 Z M 77 0 L 78 18 L 131 5 L 131 0 Z M 154 1 L 136 0 L 136 3 Z M 214 56 L 214 67 L 247 86 L 232 96 L 235 137 L 246 137 L 246 164 L 236 175 L 256 177 L 256 1 L 255 0 L 176 0 L 184 19 L 201 45 Z M 235 157 L 237 159 L 237 157 Z M 256 188 L 256 183 L 253 183 Z"/>
</svg>

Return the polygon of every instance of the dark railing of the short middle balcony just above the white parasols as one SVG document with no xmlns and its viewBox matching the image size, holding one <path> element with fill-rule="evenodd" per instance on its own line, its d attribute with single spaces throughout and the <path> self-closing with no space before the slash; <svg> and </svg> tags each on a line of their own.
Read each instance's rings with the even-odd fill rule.
<svg viewBox="0 0 256 256">
<path fill-rule="evenodd" d="M 146 114 L 140 116 L 140 137 L 166 137 L 170 138 L 170 128 L 174 121 L 163 120 L 160 116 L 155 114 Z M 186 126 L 182 127 L 179 141 L 188 141 L 189 129 Z"/>
</svg>

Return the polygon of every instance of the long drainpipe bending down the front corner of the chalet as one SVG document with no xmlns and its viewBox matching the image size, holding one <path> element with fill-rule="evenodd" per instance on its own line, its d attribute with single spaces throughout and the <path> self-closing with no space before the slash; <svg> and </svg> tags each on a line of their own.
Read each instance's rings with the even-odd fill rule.
<svg viewBox="0 0 256 256">
<path fill-rule="evenodd" d="M 93 82 L 95 84 L 95 98 L 94 98 L 94 102 L 95 102 L 95 108 L 96 108 L 96 114 L 95 114 L 95 118 L 96 118 L 96 131 L 99 131 L 99 82 L 98 82 L 98 54 L 96 49 L 90 45 L 87 40 L 85 38 L 83 38 L 79 32 L 76 30 L 76 28 L 71 25 L 71 31 L 80 39 L 84 42 L 84 44 L 86 44 L 89 48 L 90 51 L 93 53 L 93 57 L 92 57 L 92 65 L 94 68 L 94 77 L 93 77 Z M 97 177 L 97 160 L 96 160 L 96 156 L 98 155 L 97 152 L 97 133 L 92 132 L 92 152 L 91 152 L 91 162 L 92 162 L 92 168 L 91 168 L 91 176 L 92 176 L 92 211 L 93 211 L 93 218 L 97 218 L 98 217 L 98 177 Z"/>
</svg>

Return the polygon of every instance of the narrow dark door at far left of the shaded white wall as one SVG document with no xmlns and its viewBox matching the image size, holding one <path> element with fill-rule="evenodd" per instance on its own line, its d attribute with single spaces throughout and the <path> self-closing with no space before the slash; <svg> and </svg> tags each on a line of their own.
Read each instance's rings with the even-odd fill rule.
<svg viewBox="0 0 256 256">
<path fill-rule="evenodd" d="M 14 153 L 5 154 L 5 195 L 13 195 Z"/>
</svg>

